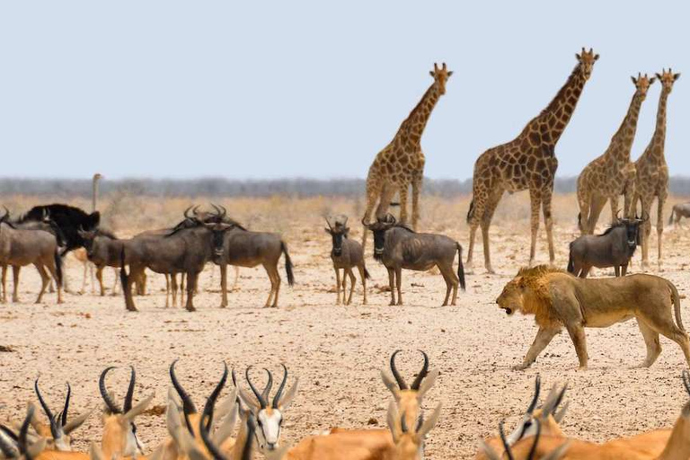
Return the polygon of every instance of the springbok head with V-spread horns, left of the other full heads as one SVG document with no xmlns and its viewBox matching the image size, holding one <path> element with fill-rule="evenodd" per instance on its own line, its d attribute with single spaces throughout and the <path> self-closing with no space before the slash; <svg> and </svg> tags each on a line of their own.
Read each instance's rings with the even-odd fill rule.
<svg viewBox="0 0 690 460">
<path fill-rule="evenodd" d="M 87 411 L 82 415 L 79 415 L 73 420 L 67 419 L 67 412 L 69 411 L 69 400 L 72 396 L 72 388 L 67 384 L 67 394 L 65 397 L 65 405 L 62 411 L 57 414 L 57 417 L 53 415 L 50 411 L 48 403 L 43 399 L 42 394 L 40 394 L 39 379 L 37 378 L 33 384 L 36 396 L 39 398 L 40 407 L 46 414 L 49 421 L 49 426 L 46 427 L 44 424 L 40 423 L 36 418 L 31 419 L 31 425 L 39 434 L 40 437 L 46 438 L 48 440 L 47 448 L 70 452 L 72 451 L 72 438 L 70 434 L 75 429 L 78 429 L 84 424 L 84 421 L 91 415 L 91 411 Z"/>
</svg>

